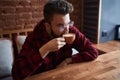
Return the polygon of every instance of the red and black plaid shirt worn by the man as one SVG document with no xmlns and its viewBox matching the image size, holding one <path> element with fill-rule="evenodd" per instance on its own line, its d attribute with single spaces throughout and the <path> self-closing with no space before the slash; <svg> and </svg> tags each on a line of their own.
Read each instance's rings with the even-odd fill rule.
<svg viewBox="0 0 120 80">
<path fill-rule="evenodd" d="M 14 80 L 21 80 L 27 76 L 48 71 L 56 68 L 63 60 L 72 58 L 73 63 L 94 60 L 98 56 L 93 44 L 76 28 L 70 27 L 70 32 L 76 34 L 73 44 L 66 44 L 60 50 L 50 52 L 44 59 L 41 57 L 39 48 L 51 40 L 42 20 L 37 24 L 31 34 L 28 35 L 20 54 L 14 62 L 12 75 Z M 72 55 L 72 48 L 79 51 Z"/>
</svg>

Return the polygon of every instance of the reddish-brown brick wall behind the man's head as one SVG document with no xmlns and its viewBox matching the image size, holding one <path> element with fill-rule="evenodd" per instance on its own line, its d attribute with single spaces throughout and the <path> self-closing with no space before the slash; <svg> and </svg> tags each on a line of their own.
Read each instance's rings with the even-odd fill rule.
<svg viewBox="0 0 120 80">
<path fill-rule="evenodd" d="M 43 18 L 43 6 L 48 0 L 0 0 L 0 31 L 33 28 Z M 68 0 L 75 10 L 71 19 L 80 27 L 80 1 Z"/>
</svg>

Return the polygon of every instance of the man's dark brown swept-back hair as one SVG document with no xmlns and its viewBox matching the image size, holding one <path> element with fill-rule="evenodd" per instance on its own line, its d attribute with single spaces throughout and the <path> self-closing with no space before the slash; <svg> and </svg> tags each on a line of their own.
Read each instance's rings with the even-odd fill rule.
<svg viewBox="0 0 120 80">
<path fill-rule="evenodd" d="M 58 14 L 68 14 L 73 11 L 73 5 L 66 0 L 50 0 L 44 6 L 44 19 L 46 22 L 50 22 L 53 18 L 53 15 Z"/>
</svg>

